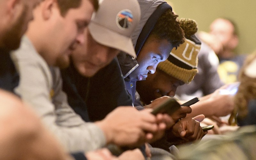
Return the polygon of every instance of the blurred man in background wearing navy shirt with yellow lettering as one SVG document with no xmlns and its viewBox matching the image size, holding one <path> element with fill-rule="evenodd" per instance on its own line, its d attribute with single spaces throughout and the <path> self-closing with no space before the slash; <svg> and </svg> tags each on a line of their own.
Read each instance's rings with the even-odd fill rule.
<svg viewBox="0 0 256 160">
<path fill-rule="evenodd" d="M 245 56 L 237 55 L 234 51 L 239 42 L 235 22 L 227 18 L 217 18 L 210 25 L 209 33 L 222 44 L 222 48 L 215 51 L 220 61 L 218 73 L 221 80 L 224 83 L 236 82 L 238 71 L 243 65 Z"/>
</svg>

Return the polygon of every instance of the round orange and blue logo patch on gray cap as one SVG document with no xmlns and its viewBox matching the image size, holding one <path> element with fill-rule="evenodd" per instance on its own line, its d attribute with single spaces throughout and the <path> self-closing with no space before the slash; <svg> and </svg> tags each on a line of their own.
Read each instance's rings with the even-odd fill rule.
<svg viewBox="0 0 256 160">
<path fill-rule="evenodd" d="M 116 24 L 121 29 L 128 29 L 132 25 L 133 15 L 130 10 L 122 10 L 116 16 Z"/>
</svg>

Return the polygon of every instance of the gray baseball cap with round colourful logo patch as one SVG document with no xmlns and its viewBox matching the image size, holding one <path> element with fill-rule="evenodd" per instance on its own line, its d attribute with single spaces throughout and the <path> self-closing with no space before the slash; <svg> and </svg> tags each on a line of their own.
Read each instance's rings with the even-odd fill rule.
<svg viewBox="0 0 256 160">
<path fill-rule="evenodd" d="M 100 0 L 92 15 L 89 32 L 98 43 L 136 57 L 131 35 L 140 21 L 137 0 Z"/>
</svg>

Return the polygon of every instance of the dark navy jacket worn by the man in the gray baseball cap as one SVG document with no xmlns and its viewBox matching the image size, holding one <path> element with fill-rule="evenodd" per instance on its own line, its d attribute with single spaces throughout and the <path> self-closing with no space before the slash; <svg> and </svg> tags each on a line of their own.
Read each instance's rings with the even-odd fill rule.
<svg viewBox="0 0 256 160">
<path fill-rule="evenodd" d="M 91 78 L 81 76 L 73 64 L 61 74 L 68 104 L 87 122 L 104 119 L 117 106 L 132 105 L 117 59 Z"/>
</svg>

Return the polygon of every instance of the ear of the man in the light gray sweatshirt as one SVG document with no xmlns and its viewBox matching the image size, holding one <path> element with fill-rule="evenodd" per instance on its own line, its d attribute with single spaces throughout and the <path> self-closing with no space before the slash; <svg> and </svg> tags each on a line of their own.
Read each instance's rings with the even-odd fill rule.
<svg viewBox="0 0 256 160">
<path fill-rule="evenodd" d="M 42 3 L 42 15 L 44 20 L 51 17 L 53 13 L 53 6 L 56 5 L 56 0 L 44 0 Z"/>
</svg>

